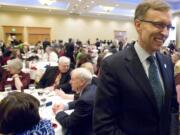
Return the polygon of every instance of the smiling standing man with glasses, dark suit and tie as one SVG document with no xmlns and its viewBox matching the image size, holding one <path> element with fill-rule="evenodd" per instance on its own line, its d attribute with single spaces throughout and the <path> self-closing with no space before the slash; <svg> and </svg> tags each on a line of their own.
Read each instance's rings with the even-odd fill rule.
<svg viewBox="0 0 180 135">
<path fill-rule="evenodd" d="M 162 1 L 139 4 L 138 42 L 104 60 L 93 117 L 96 135 L 177 135 L 173 65 L 158 52 L 172 28 L 169 10 Z"/>
</svg>

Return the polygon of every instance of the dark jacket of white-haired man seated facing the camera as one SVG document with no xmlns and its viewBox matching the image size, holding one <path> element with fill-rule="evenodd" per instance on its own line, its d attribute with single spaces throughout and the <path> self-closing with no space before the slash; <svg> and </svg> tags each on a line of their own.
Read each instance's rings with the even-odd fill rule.
<svg viewBox="0 0 180 135">
<path fill-rule="evenodd" d="M 72 93 L 71 85 L 69 83 L 71 79 L 70 72 L 71 70 L 69 70 L 67 73 L 62 73 L 60 83 L 59 86 L 57 86 L 57 89 L 61 88 L 66 93 Z M 59 73 L 60 71 L 58 67 L 48 67 L 41 80 L 39 81 L 39 87 L 45 88 L 48 86 L 52 86 Z"/>
</svg>

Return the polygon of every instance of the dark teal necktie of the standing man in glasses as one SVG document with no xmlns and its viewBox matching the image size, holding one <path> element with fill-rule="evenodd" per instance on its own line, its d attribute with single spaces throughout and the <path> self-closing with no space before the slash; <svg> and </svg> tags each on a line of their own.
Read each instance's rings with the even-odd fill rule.
<svg viewBox="0 0 180 135">
<path fill-rule="evenodd" d="M 159 111 L 161 110 L 161 106 L 163 104 L 163 99 L 164 99 L 164 90 L 160 82 L 160 78 L 158 75 L 158 67 L 155 63 L 155 57 L 154 56 L 149 56 L 147 60 L 150 62 L 149 65 L 149 81 L 152 86 L 157 106 Z"/>
</svg>

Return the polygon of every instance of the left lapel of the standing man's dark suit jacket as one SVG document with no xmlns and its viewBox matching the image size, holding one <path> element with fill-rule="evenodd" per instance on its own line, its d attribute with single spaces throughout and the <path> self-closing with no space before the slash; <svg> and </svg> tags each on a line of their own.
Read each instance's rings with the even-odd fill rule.
<svg viewBox="0 0 180 135">
<path fill-rule="evenodd" d="M 149 83 L 149 79 L 145 73 L 142 63 L 140 62 L 137 53 L 135 52 L 134 46 L 127 49 L 127 54 L 125 58 L 127 62 L 127 70 L 134 78 L 136 83 L 142 89 L 143 93 L 147 96 L 147 99 L 152 103 L 152 106 L 158 113 L 158 107 L 156 99 Z"/>
</svg>

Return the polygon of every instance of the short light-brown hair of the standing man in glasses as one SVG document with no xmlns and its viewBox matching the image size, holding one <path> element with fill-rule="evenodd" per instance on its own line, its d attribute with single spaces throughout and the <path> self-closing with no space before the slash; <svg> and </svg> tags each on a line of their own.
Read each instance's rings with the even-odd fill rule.
<svg viewBox="0 0 180 135">
<path fill-rule="evenodd" d="M 151 1 L 142 2 L 136 8 L 134 20 L 144 19 L 149 9 L 153 9 L 157 11 L 169 11 L 170 6 L 162 0 L 151 0 Z"/>
</svg>

